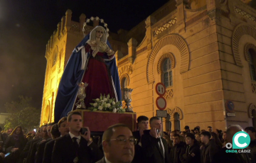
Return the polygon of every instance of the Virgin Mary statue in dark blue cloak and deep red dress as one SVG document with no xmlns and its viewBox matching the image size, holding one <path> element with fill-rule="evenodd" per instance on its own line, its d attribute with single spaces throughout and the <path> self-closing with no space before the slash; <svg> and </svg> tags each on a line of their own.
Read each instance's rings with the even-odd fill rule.
<svg viewBox="0 0 256 163">
<path fill-rule="evenodd" d="M 86 107 L 100 94 L 110 94 L 110 98 L 121 100 L 117 64 L 107 35 L 105 28 L 96 26 L 73 50 L 58 87 L 55 122 L 74 109 L 80 82 L 88 84 L 85 91 Z"/>
</svg>

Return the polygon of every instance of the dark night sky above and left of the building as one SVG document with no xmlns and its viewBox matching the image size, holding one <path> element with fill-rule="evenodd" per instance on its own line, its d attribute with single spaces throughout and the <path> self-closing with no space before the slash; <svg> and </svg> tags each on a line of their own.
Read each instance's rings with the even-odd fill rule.
<svg viewBox="0 0 256 163">
<path fill-rule="evenodd" d="M 41 108 L 46 43 L 67 9 L 73 21 L 81 13 L 98 16 L 116 33 L 130 30 L 169 0 L 1 0 L 0 112 L 4 103 L 31 96 Z"/>
</svg>

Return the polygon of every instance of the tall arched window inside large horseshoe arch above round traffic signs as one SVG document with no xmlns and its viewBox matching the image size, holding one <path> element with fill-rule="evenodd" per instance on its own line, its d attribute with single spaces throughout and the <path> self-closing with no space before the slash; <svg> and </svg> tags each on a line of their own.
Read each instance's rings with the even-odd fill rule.
<svg viewBox="0 0 256 163">
<path fill-rule="evenodd" d="M 166 58 L 163 62 L 163 77 L 162 77 L 162 83 L 164 83 L 164 86 L 172 86 L 173 85 L 173 78 L 172 78 L 172 71 L 171 71 L 171 60 L 169 58 Z"/>
</svg>

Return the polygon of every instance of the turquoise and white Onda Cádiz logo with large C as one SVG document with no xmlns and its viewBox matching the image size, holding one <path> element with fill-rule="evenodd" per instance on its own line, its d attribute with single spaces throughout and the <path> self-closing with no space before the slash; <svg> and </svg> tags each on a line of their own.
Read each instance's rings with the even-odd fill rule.
<svg viewBox="0 0 256 163">
<path fill-rule="evenodd" d="M 227 153 L 250 153 L 250 150 L 245 149 L 250 145 L 250 136 L 244 131 L 235 133 L 233 143 L 228 142 L 225 147 L 228 148 Z M 243 150 L 245 149 L 245 150 Z"/>
</svg>

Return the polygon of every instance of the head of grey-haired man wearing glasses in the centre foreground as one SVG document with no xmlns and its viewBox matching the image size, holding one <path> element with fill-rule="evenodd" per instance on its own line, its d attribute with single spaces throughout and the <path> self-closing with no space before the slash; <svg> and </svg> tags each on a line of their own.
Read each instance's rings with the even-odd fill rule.
<svg viewBox="0 0 256 163">
<path fill-rule="evenodd" d="M 103 151 L 110 162 L 132 162 L 135 143 L 132 131 L 124 124 L 110 126 L 102 136 Z"/>
</svg>

